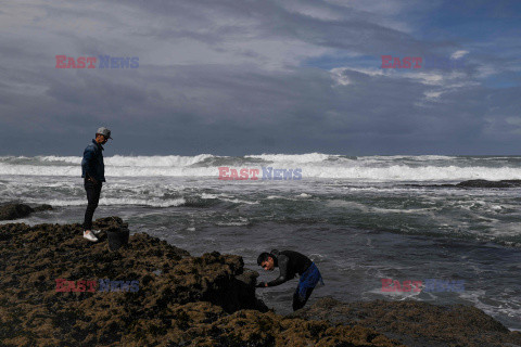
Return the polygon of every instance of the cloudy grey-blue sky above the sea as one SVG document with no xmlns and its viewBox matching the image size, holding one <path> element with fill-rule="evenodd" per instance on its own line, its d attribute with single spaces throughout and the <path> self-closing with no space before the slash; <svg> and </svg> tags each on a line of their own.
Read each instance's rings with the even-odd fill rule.
<svg viewBox="0 0 521 347">
<path fill-rule="evenodd" d="M 520 38 L 518 0 L 0 0 L 0 155 L 521 155 Z"/>
</svg>

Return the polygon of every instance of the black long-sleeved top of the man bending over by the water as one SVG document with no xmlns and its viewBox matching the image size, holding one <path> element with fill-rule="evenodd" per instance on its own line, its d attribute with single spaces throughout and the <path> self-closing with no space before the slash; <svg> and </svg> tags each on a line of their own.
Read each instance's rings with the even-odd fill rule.
<svg viewBox="0 0 521 347">
<path fill-rule="evenodd" d="M 302 275 L 313 262 L 305 255 L 294 250 L 278 252 L 272 249 L 270 253 L 275 256 L 275 266 L 280 269 L 280 274 L 274 281 L 268 282 L 268 286 L 282 284 L 293 279 L 297 273 Z"/>
</svg>

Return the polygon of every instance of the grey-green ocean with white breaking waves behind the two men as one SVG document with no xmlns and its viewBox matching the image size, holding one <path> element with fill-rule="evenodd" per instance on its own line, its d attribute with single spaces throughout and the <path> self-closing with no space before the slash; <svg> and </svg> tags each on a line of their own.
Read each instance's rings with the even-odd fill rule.
<svg viewBox="0 0 521 347">
<path fill-rule="evenodd" d="M 80 156 L 0 157 L 0 203 L 54 207 L 16 222 L 82 222 L 80 162 Z M 231 177 L 232 169 L 238 178 L 241 169 L 258 170 L 258 179 L 219 179 L 219 172 Z M 278 275 L 256 265 L 259 253 L 308 255 L 326 285 L 307 305 L 325 296 L 466 304 L 521 331 L 520 188 L 456 185 L 519 180 L 521 157 L 114 155 L 105 157 L 105 177 L 94 218 L 119 216 L 131 233 L 148 232 L 195 256 L 241 255 L 259 281 Z M 465 290 L 383 292 L 382 279 L 462 281 Z M 257 295 L 289 313 L 296 284 Z"/>
</svg>

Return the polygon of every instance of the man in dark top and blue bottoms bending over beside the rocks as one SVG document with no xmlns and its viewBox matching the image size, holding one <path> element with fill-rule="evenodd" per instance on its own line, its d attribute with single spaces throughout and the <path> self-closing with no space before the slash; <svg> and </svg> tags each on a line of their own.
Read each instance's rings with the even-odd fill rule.
<svg viewBox="0 0 521 347">
<path fill-rule="evenodd" d="M 295 277 L 301 277 L 298 285 L 293 294 L 293 311 L 301 309 L 306 305 L 313 290 L 320 282 L 323 285 L 322 277 L 317 266 L 305 255 L 294 250 L 277 249 L 270 253 L 262 253 L 257 258 L 259 265 L 266 271 L 274 271 L 276 267 L 280 269 L 280 274 L 271 282 L 260 282 L 257 287 L 268 287 L 282 284 Z"/>
</svg>

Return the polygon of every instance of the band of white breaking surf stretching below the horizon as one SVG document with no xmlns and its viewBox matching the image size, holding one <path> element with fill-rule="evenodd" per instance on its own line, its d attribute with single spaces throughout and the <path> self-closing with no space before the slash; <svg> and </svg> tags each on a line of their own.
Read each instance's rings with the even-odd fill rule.
<svg viewBox="0 0 521 347">
<path fill-rule="evenodd" d="M 476 164 L 475 160 L 479 160 Z M 218 178 L 219 166 L 236 169 L 263 166 L 302 169 L 302 179 L 342 179 L 351 181 L 462 181 L 471 179 L 521 179 L 521 160 L 509 157 L 474 158 L 449 156 L 370 156 L 351 158 L 310 153 L 302 155 L 262 154 L 244 157 L 196 156 L 109 156 L 107 177 L 202 177 Z M 258 162 L 260 160 L 260 163 Z M 229 162 L 231 164 L 223 164 Z M 0 157 L 0 175 L 77 177 L 81 157 L 37 156 Z M 238 166 L 239 165 L 239 166 Z"/>
</svg>

